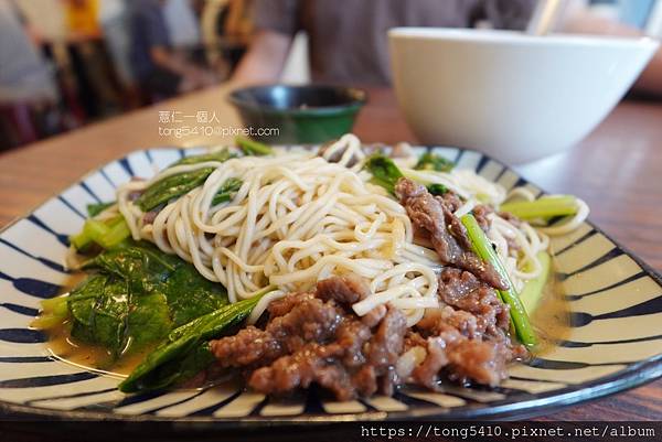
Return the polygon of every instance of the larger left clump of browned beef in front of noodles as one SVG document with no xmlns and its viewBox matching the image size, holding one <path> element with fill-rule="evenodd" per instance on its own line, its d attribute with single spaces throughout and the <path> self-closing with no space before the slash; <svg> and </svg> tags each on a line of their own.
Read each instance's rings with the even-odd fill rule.
<svg viewBox="0 0 662 442">
<path fill-rule="evenodd" d="M 394 366 L 407 332 L 404 314 L 375 309 L 372 323 L 351 304 L 369 288 L 348 274 L 320 281 L 314 293 L 290 293 L 268 309 L 265 330 L 248 326 L 212 341 L 222 367 L 244 369 L 248 386 L 264 394 L 285 394 L 316 382 L 339 400 L 393 392 L 399 382 Z M 371 312 L 372 313 L 372 312 Z"/>
</svg>

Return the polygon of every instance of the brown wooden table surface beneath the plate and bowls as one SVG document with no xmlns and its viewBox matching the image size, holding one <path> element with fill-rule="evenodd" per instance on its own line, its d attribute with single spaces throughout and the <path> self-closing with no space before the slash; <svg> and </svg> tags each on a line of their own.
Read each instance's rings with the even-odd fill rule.
<svg viewBox="0 0 662 442">
<path fill-rule="evenodd" d="M 201 145 L 233 136 L 160 136 L 160 111 L 177 111 L 195 126 L 197 111 L 239 128 L 225 101 L 227 87 L 192 94 L 92 125 L 0 155 L 0 226 L 28 213 L 86 171 L 141 148 Z M 415 141 L 388 89 L 369 90 L 355 132 L 369 142 Z M 180 125 L 181 126 L 181 125 Z M 624 101 L 572 151 L 516 168 L 548 192 L 573 193 L 589 204 L 591 219 L 653 268 L 662 268 L 662 104 Z M 548 420 L 660 420 L 662 381 L 569 408 Z"/>
</svg>

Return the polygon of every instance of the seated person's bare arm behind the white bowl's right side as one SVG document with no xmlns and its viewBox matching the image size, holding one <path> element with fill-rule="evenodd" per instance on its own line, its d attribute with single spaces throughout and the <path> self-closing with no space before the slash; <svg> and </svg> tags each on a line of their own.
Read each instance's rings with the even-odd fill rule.
<svg viewBox="0 0 662 442">
<path fill-rule="evenodd" d="M 643 33 L 626 24 L 590 12 L 577 12 L 563 25 L 564 32 L 579 34 L 604 34 L 620 36 L 643 36 Z M 662 96 L 662 48 L 658 50 L 633 86 L 634 90 Z"/>
</svg>

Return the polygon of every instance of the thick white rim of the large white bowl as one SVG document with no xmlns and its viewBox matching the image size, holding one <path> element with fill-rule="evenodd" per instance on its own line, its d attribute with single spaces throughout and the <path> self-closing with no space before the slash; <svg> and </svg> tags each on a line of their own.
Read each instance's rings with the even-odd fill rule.
<svg viewBox="0 0 662 442">
<path fill-rule="evenodd" d="M 596 34 L 530 35 L 522 31 L 461 29 L 461 28 L 423 28 L 396 26 L 388 30 L 389 40 L 440 40 L 460 43 L 485 43 L 493 45 L 536 45 L 536 46 L 583 46 L 605 47 L 606 45 L 629 48 L 641 47 L 654 50 L 660 46 L 656 39 L 650 36 L 613 36 Z"/>
</svg>

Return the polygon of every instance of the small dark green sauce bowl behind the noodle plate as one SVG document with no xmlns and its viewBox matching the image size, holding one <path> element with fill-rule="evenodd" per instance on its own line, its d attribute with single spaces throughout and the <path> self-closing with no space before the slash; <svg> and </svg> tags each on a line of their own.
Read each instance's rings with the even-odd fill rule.
<svg viewBox="0 0 662 442">
<path fill-rule="evenodd" d="M 270 85 L 236 89 L 229 103 L 238 110 L 250 138 L 268 143 L 312 144 L 352 130 L 365 104 L 361 89 L 340 86 Z M 274 129 L 278 130 L 276 133 Z M 259 129 L 267 129 L 261 133 Z"/>
</svg>

